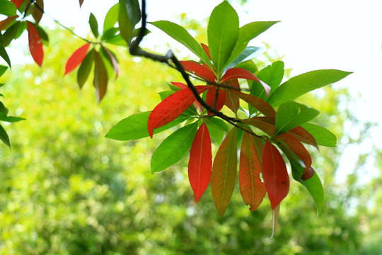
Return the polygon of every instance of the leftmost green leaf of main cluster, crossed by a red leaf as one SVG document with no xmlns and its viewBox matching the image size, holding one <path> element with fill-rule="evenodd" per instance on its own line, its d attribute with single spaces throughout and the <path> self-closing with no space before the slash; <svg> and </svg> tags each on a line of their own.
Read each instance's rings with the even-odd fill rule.
<svg viewBox="0 0 382 255">
<path fill-rule="evenodd" d="M 121 120 L 110 129 L 105 137 L 119 141 L 138 140 L 144 137 L 148 137 L 149 131 L 147 131 L 147 121 L 149 120 L 150 113 L 151 111 L 138 113 Z M 163 127 L 156 128 L 154 130 L 154 134 L 163 132 L 169 128 L 173 128 L 175 125 L 183 123 L 183 121 L 187 119 L 188 116 L 180 115 L 178 118 L 164 125 Z"/>
</svg>

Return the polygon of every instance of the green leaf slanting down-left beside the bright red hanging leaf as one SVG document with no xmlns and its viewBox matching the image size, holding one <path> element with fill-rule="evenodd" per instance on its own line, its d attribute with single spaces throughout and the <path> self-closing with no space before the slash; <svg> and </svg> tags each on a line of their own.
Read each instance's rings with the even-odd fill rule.
<svg viewBox="0 0 382 255">
<path fill-rule="evenodd" d="M 186 125 L 168 136 L 151 157 L 151 173 L 163 171 L 183 159 L 191 149 L 196 132 L 197 122 Z"/>
</svg>

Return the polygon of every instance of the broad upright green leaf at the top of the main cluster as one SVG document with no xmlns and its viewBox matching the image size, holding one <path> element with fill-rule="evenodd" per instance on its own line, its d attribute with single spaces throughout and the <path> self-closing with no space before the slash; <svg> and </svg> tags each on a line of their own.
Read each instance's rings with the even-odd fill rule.
<svg viewBox="0 0 382 255">
<path fill-rule="evenodd" d="M 218 76 L 228 64 L 228 59 L 238 40 L 238 34 L 238 13 L 227 1 L 223 1 L 212 11 L 207 28 L 209 52 Z"/>
</svg>

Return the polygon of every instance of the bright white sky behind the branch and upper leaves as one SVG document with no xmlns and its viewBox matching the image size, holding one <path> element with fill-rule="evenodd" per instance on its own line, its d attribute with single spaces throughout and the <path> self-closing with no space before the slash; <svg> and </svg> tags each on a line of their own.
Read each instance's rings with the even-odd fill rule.
<svg viewBox="0 0 382 255">
<path fill-rule="evenodd" d="M 95 13 L 99 23 L 102 23 L 105 13 L 116 2 L 85 0 L 79 9 L 77 0 L 50 0 L 45 1 L 45 11 L 65 26 L 76 27 L 76 32 L 85 36 L 89 31 L 89 13 Z M 175 16 L 183 12 L 189 18 L 201 20 L 209 16 L 220 2 L 147 0 L 147 13 L 149 21 L 163 19 L 178 23 Z M 292 76 L 316 69 L 354 72 L 335 86 L 350 88 L 359 120 L 374 121 L 379 127 L 382 126 L 381 0 L 249 0 L 245 10 L 238 5 L 233 7 L 239 13 L 241 26 L 251 21 L 282 21 L 252 44 L 261 46 L 262 42 L 267 42 L 279 55 L 284 56 L 286 67 L 293 68 Z M 42 18 L 46 23 L 51 23 L 49 20 L 48 17 Z M 158 43 L 161 39 L 166 42 L 167 35 L 160 32 L 158 36 Z M 11 59 L 14 59 L 12 55 L 17 54 L 16 51 L 20 52 L 16 49 L 10 52 Z M 358 94 L 361 94 L 361 98 L 356 98 Z M 374 130 L 373 137 L 374 142 L 382 147 L 379 130 Z M 348 169 L 359 150 L 364 153 L 371 150 L 370 147 L 370 144 L 366 144 L 364 148 L 345 152 L 342 161 L 347 162 L 347 166 L 342 168 Z"/>
</svg>

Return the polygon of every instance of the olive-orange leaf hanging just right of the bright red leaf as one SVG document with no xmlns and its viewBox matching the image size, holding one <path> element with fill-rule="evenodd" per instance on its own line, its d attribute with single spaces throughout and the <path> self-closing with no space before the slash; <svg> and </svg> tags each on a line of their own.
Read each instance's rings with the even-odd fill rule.
<svg viewBox="0 0 382 255">
<path fill-rule="evenodd" d="M 237 134 L 236 128 L 228 132 L 218 152 L 216 152 L 212 166 L 211 193 L 221 217 L 226 212 L 235 188 L 238 164 Z"/>
</svg>

